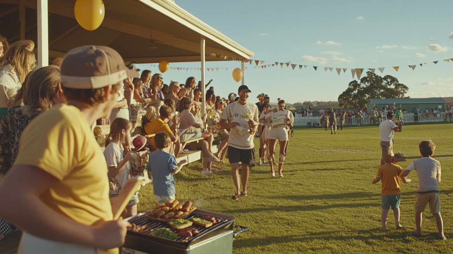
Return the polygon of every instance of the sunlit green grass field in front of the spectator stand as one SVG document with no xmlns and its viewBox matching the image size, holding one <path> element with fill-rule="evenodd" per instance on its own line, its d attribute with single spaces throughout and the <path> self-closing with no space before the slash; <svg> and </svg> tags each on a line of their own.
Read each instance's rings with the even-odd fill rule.
<svg viewBox="0 0 453 254">
<path fill-rule="evenodd" d="M 452 124 L 405 125 L 395 133 L 394 152 L 419 158 L 418 143 L 433 140 L 434 157 L 442 165 L 441 214 L 448 240 L 437 240 L 434 217 L 424 213 L 423 237 L 415 229 L 416 172 L 401 190 L 401 224 L 395 229 L 389 212 L 387 232 L 381 232 L 381 182 L 372 185 L 380 166 L 379 128 L 347 127 L 330 135 L 324 129 L 295 129 L 290 138 L 284 178 L 270 177 L 269 166 L 252 169 L 246 197 L 234 201 L 231 166 L 214 176 L 200 176 L 201 164 L 184 166 L 175 176 L 176 198 L 194 200 L 202 209 L 236 216 L 236 224 L 251 230 L 239 234 L 234 253 L 452 253 L 453 142 Z M 258 151 L 258 139 L 255 139 Z M 278 151 L 278 149 L 277 149 Z M 154 207 L 152 185 L 140 190 L 139 212 Z"/>
</svg>

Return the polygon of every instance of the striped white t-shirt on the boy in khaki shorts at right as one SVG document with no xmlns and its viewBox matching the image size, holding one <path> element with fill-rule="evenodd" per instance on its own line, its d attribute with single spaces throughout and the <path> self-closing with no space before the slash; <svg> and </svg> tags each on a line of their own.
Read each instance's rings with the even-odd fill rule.
<svg viewBox="0 0 453 254">
<path fill-rule="evenodd" d="M 436 176 L 440 175 L 440 162 L 431 157 L 422 157 L 412 161 L 406 170 L 417 171 L 419 177 L 419 189 L 417 193 L 439 192 L 439 184 Z"/>
</svg>

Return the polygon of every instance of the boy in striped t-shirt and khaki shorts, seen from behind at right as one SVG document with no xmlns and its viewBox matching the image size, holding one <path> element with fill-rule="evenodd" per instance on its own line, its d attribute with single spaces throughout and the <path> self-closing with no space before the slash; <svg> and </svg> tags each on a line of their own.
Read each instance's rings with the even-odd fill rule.
<svg viewBox="0 0 453 254">
<path fill-rule="evenodd" d="M 431 140 L 424 140 L 419 144 L 419 150 L 422 157 L 406 168 L 400 177 L 409 175 L 410 171 L 416 170 L 419 178 L 419 188 L 415 198 L 415 225 L 417 230 L 414 235 L 421 236 L 422 213 L 426 204 L 429 203 L 429 210 L 436 219 L 439 239 L 447 239 L 443 234 L 443 221 L 440 215 L 439 183 L 440 183 L 440 162 L 431 158 L 436 149 L 436 144 Z"/>
</svg>

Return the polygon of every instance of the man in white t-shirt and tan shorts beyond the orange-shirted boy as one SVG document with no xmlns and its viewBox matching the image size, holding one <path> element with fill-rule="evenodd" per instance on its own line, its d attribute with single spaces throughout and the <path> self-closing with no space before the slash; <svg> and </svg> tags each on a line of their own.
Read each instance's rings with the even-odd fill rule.
<svg viewBox="0 0 453 254">
<path fill-rule="evenodd" d="M 387 112 L 387 120 L 382 121 L 379 124 L 379 131 L 381 132 L 381 148 L 382 148 L 382 158 L 381 165 L 385 165 L 385 158 L 390 157 L 393 159 L 393 134 L 395 132 L 400 132 L 400 129 L 396 126 L 393 119 L 393 111 Z"/>
</svg>

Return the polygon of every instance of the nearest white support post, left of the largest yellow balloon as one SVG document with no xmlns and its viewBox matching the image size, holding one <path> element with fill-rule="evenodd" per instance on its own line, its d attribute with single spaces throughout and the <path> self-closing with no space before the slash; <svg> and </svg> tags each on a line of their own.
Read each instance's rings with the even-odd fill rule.
<svg viewBox="0 0 453 254">
<path fill-rule="evenodd" d="M 38 1 L 38 68 L 49 65 L 48 2 Z"/>
</svg>

